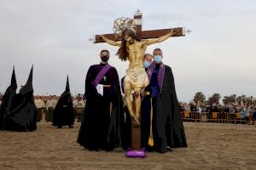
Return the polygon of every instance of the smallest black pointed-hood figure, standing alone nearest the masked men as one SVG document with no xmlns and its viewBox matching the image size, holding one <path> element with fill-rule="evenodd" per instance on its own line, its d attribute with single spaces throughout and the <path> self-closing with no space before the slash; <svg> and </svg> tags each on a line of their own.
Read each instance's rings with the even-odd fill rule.
<svg viewBox="0 0 256 170">
<path fill-rule="evenodd" d="M 67 77 L 66 89 L 61 94 L 57 105 L 53 111 L 53 123 L 52 125 L 58 128 L 62 126 L 73 127 L 74 122 L 74 110 L 73 100 L 70 94 L 69 82 Z"/>
</svg>

